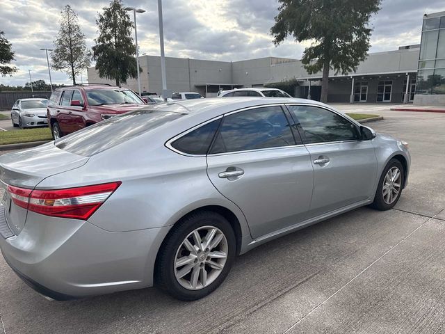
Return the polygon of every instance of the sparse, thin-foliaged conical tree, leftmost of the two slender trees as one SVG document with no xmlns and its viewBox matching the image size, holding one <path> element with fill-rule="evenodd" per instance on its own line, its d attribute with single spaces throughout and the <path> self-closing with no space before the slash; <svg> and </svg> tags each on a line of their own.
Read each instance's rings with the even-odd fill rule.
<svg viewBox="0 0 445 334">
<path fill-rule="evenodd" d="M 85 35 L 74 10 L 67 5 L 60 13 L 60 29 L 51 54 L 52 67 L 65 71 L 75 85 L 76 75 L 90 65 L 91 52 L 86 47 Z"/>
</svg>

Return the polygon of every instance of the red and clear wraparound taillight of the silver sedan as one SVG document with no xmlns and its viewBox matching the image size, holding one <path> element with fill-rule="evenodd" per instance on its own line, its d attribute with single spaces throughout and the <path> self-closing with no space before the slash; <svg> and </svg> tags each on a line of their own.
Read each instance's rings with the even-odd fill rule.
<svg viewBox="0 0 445 334">
<path fill-rule="evenodd" d="M 120 186 L 121 182 L 80 186 L 60 190 L 31 190 L 8 186 L 15 205 L 38 214 L 88 219 Z"/>
</svg>

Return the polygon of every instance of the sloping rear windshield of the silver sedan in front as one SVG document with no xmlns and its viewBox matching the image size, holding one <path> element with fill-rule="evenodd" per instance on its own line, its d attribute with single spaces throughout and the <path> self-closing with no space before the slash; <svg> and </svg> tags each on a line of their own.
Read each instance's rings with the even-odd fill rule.
<svg viewBox="0 0 445 334">
<path fill-rule="evenodd" d="M 56 141 L 56 146 L 70 153 L 91 157 L 181 116 L 184 113 L 157 110 L 124 113 L 61 138 Z"/>
</svg>

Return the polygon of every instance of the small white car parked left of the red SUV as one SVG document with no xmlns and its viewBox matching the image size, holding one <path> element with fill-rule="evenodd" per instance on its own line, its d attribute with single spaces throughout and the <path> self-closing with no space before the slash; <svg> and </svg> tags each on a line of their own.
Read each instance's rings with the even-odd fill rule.
<svg viewBox="0 0 445 334">
<path fill-rule="evenodd" d="M 13 127 L 48 126 L 47 99 L 19 99 L 11 109 Z"/>
</svg>

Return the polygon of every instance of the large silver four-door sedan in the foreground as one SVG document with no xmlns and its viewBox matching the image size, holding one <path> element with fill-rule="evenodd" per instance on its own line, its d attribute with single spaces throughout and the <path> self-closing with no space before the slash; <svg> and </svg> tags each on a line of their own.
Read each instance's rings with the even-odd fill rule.
<svg viewBox="0 0 445 334">
<path fill-rule="evenodd" d="M 407 143 L 318 102 L 155 104 L 1 156 L 0 248 L 51 299 L 157 285 L 191 301 L 255 246 L 394 207 L 409 170 Z"/>
</svg>

